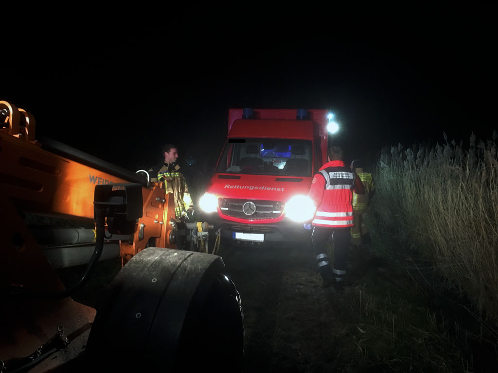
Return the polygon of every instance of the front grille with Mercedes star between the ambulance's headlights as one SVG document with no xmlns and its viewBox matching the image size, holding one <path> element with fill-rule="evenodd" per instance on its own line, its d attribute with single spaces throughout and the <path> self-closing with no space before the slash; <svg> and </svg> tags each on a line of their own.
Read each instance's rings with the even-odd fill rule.
<svg viewBox="0 0 498 373">
<path fill-rule="evenodd" d="M 282 213 L 285 203 L 263 199 L 218 198 L 218 205 L 225 216 L 257 220 L 276 219 Z"/>
</svg>

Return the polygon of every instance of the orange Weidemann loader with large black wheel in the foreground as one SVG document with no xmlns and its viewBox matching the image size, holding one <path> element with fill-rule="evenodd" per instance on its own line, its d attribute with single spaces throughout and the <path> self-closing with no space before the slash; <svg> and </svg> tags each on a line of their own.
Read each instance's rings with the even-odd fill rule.
<svg viewBox="0 0 498 373">
<path fill-rule="evenodd" d="M 208 253 L 210 224 L 175 221 L 165 190 L 35 140 L 33 116 L 0 101 L 1 373 L 242 370 L 240 296 Z M 96 308 L 72 299 L 99 260 L 118 257 Z M 57 270 L 76 265 L 83 275 L 64 285 Z"/>
</svg>

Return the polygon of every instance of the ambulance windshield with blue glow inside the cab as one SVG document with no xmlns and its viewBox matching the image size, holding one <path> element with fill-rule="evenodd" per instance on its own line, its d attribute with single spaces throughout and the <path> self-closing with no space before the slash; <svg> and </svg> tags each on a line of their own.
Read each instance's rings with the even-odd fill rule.
<svg viewBox="0 0 498 373">
<path fill-rule="evenodd" d="M 311 176 L 311 140 L 247 138 L 229 139 L 216 172 Z"/>
</svg>

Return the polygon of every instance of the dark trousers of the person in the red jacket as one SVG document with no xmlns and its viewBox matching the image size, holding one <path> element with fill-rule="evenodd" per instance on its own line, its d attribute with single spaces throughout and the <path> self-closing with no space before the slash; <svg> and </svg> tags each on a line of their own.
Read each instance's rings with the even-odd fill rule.
<svg viewBox="0 0 498 373">
<path fill-rule="evenodd" d="M 329 237 L 332 234 L 334 242 L 334 273 L 338 275 L 346 274 L 346 261 L 348 258 L 348 249 L 351 239 L 351 227 L 347 228 L 325 228 L 313 227 L 311 234 L 311 242 L 313 243 L 313 251 L 318 257 L 320 254 L 326 254 L 326 245 Z M 342 273 L 344 272 L 344 273 Z M 336 276 L 339 278 L 342 276 Z"/>
</svg>

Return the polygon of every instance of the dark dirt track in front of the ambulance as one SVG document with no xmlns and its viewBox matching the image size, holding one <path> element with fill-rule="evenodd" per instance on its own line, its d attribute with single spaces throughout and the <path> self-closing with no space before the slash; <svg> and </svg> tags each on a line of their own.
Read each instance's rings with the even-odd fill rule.
<svg viewBox="0 0 498 373">
<path fill-rule="evenodd" d="M 310 248 L 230 248 L 222 257 L 244 308 L 244 372 L 331 372 L 337 294 L 321 288 Z"/>
</svg>

